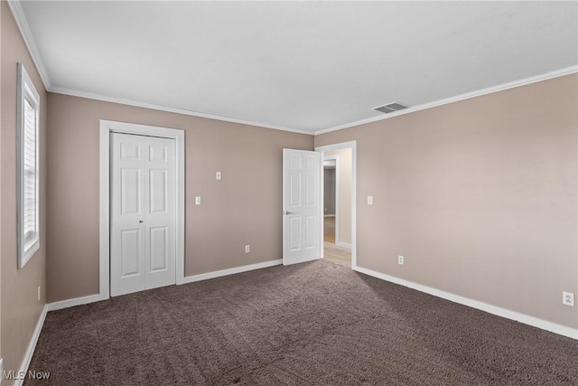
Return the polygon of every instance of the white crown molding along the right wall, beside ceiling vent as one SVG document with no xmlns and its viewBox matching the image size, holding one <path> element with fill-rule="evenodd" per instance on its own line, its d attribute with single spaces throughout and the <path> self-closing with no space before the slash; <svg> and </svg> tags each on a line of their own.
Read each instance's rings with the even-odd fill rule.
<svg viewBox="0 0 578 386">
<path fill-rule="evenodd" d="M 514 80 L 508 83 L 500 84 L 498 86 L 489 87 L 487 89 L 478 89 L 476 91 L 466 92 L 464 94 L 456 95 L 455 97 L 450 97 L 446 99 L 434 100 L 433 102 L 424 103 L 423 105 L 413 106 L 411 108 L 405 108 L 403 110 L 396 111 L 394 113 L 389 113 L 387 115 L 361 119 L 355 122 L 346 123 L 344 125 L 329 127 L 322 130 L 317 130 L 313 132 L 314 136 L 319 136 L 321 134 L 330 133 L 331 131 L 341 130 L 348 127 L 356 127 L 364 125 L 366 123 L 377 122 L 379 120 L 398 117 L 400 115 L 414 113 L 415 111 L 424 110 L 426 108 L 436 108 L 438 106 L 447 105 L 448 103 L 459 102 L 465 99 L 471 99 L 476 97 L 481 97 L 482 95 L 491 94 L 494 92 L 504 91 L 506 89 L 515 89 L 517 87 L 526 86 L 528 84 L 537 83 L 543 80 L 550 80 L 554 78 L 563 77 L 565 75 L 570 75 L 578 72 L 578 66 L 566 67 L 562 70 L 550 71 L 545 74 L 536 75 L 533 77 L 525 78 L 523 80 Z"/>
</svg>

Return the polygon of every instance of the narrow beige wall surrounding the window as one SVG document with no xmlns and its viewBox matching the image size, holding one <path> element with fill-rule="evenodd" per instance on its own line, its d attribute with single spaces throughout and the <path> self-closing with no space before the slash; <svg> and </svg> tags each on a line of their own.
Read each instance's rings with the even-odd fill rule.
<svg viewBox="0 0 578 386">
<path fill-rule="evenodd" d="M 2 356 L 5 370 L 20 370 L 24 353 L 45 303 L 46 255 L 46 91 L 8 5 L 2 2 L 2 127 L 0 187 L 2 205 Z M 21 269 L 17 268 L 16 221 L 16 78 L 17 62 L 23 62 L 41 98 L 40 122 L 40 221 L 41 249 Z M 37 287 L 42 288 L 41 301 Z M 4 384 L 4 382 L 3 382 Z"/>
</svg>

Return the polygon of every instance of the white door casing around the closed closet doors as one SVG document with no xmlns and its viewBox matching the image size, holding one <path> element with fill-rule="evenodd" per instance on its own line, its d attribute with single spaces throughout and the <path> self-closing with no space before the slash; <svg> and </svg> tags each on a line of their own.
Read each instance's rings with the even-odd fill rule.
<svg viewBox="0 0 578 386">
<path fill-rule="evenodd" d="M 110 133 L 174 139 L 176 174 L 175 281 L 184 283 L 184 130 L 100 119 L 99 300 L 110 297 Z"/>
</svg>

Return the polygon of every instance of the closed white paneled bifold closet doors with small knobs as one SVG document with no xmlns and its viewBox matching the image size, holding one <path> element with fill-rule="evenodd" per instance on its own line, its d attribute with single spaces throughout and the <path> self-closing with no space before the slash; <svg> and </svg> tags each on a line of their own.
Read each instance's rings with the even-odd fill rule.
<svg viewBox="0 0 578 386">
<path fill-rule="evenodd" d="M 110 293 L 175 284 L 174 139 L 111 134 Z"/>
</svg>

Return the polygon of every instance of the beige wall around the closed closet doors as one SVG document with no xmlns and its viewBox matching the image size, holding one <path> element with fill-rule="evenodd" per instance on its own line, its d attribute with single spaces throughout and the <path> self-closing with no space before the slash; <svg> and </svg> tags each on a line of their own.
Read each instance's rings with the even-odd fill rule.
<svg viewBox="0 0 578 386">
<path fill-rule="evenodd" d="M 312 136 L 53 93 L 49 104 L 49 302 L 98 293 L 100 119 L 185 130 L 185 276 L 282 258 L 282 149 L 312 150 Z"/>
</svg>

